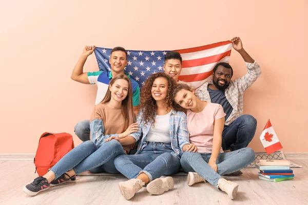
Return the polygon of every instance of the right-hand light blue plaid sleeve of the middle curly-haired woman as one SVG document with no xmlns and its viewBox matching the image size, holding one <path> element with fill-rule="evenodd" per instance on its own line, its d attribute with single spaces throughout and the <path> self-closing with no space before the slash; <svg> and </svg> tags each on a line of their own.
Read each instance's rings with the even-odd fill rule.
<svg viewBox="0 0 308 205">
<path fill-rule="evenodd" d="M 189 133 L 187 129 L 187 117 L 184 112 L 178 112 L 178 120 L 179 120 L 179 128 L 177 131 L 179 145 L 180 148 L 183 150 L 184 145 L 190 144 L 189 142 Z"/>
</svg>

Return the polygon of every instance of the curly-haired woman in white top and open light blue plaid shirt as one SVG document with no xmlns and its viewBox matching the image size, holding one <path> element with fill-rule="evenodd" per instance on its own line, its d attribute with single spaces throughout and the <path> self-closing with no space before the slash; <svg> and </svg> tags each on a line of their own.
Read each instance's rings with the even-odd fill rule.
<svg viewBox="0 0 308 205">
<path fill-rule="evenodd" d="M 137 116 L 139 132 L 124 139 L 122 145 L 142 139 L 136 155 L 120 155 L 115 167 L 130 180 L 119 183 L 121 194 L 129 200 L 143 185 L 151 194 L 162 194 L 174 188 L 172 177 L 180 170 L 180 156 L 191 147 L 188 141 L 186 115 L 171 107 L 175 81 L 165 73 L 152 74 L 141 89 L 141 108 Z"/>
</svg>

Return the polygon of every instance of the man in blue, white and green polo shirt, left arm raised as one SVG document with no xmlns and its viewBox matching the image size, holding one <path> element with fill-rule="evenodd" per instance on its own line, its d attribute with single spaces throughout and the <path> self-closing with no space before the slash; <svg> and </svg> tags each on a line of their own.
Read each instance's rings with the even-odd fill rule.
<svg viewBox="0 0 308 205">
<path fill-rule="evenodd" d="M 111 50 L 109 63 L 111 71 L 98 71 L 98 72 L 83 72 L 83 67 L 89 55 L 93 53 L 95 46 L 86 46 L 80 56 L 77 64 L 75 65 L 71 78 L 83 84 L 96 84 L 98 86 L 97 97 L 95 105 L 98 105 L 108 89 L 109 81 L 112 77 L 124 74 L 124 68 L 127 64 L 127 52 L 122 47 L 115 47 Z M 128 77 L 129 74 L 125 73 Z M 129 77 L 130 78 L 130 77 Z M 132 86 L 132 105 L 134 106 L 134 113 L 138 113 L 138 105 L 140 104 L 140 88 L 136 81 L 130 79 Z M 75 134 L 82 140 L 87 141 L 90 139 L 90 122 L 88 119 L 78 122 L 74 130 Z"/>
</svg>

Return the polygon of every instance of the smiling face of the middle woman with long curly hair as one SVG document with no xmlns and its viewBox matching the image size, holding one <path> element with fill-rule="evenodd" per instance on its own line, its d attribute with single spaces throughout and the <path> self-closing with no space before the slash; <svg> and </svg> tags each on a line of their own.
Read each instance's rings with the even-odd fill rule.
<svg viewBox="0 0 308 205">
<path fill-rule="evenodd" d="M 153 81 L 151 95 L 156 101 L 165 101 L 168 92 L 168 80 L 158 77 Z"/>
</svg>

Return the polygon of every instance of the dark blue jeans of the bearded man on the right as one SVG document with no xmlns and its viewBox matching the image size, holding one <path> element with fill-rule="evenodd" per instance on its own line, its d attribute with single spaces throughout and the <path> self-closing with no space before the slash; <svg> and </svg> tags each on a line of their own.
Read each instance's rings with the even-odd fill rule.
<svg viewBox="0 0 308 205">
<path fill-rule="evenodd" d="M 223 150 L 239 150 L 247 147 L 254 138 L 257 129 L 257 120 L 252 115 L 241 115 L 222 131 Z"/>
</svg>

